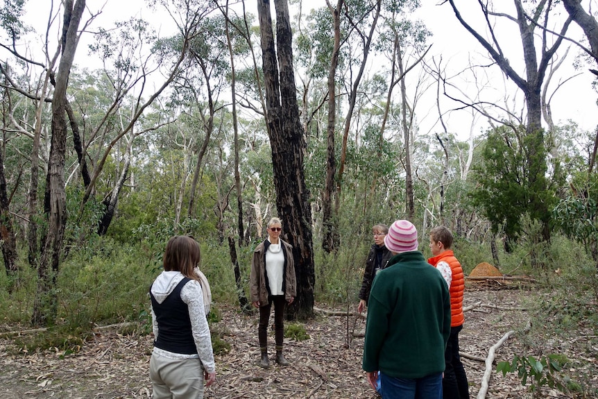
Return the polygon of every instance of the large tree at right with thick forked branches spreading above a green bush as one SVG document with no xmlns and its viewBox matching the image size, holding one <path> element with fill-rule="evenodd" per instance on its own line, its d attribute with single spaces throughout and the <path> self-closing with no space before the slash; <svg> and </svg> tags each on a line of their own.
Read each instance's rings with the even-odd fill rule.
<svg viewBox="0 0 598 399">
<path fill-rule="evenodd" d="M 542 30 L 540 26 L 549 26 L 552 19 L 556 17 L 556 5 L 553 0 L 540 0 L 534 2 L 524 2 L 522 0 L 513 0 L 515 14 L 510 15 L 504 12 L 504 7 L 497 8 L 496 5 L 490 5 L 479 1 L 479 20 L 486 22 L 483 27 L 474 27 L 461 15 L 461 10 L 465 6 L 457 6 L 458 1 L 448 0 L 459 23 L 484 47 L 490 57 L 502 72 L 515 83 L 525 97 L 527 110 L 527 121 L 525 121 L 525 135 L 520 136 L 518 126 L 512 126 L 515 137 L 522 137 L 520 141 L 521 149 L 526 154 L 527 170 L 529 178 L 523 180 L 527 186 L 524 187 L 530 196 L 526 196 L 528 203 L 525 209 L 533 219 L 543 222 L 543 237 L 549 239 L 549 192 L 547 174 L 547 159 L 545 134 L 542 127 L 542 96 L 541 90 L 545 80 L 547 69 L 563 42 L 567 29 L 572 18 L 568 17 L 564 22 L 558 24 L 559 28 L 550 33 Z M 493 8 L 493 6 L 495 8 Z M 501 4 L 504 6 L 504 4 Z M 526 8 L 527 6 L 527 8 Z M 468 8 L 470 6 L 467 6 Z M 511 65 L 506 49 L 512 46 L 512 41 L 508 44 L 499 42 L 500 34 L 496 29 L 497 19 L 504 18 L 507 22 L 514 23 L 518 28 L 521 40 L 521 49 L 524 60 L 523 77 L 516 71 L 518 65 Z M 488 36 L 484 37 L 483 30 Z M 537 32 L 540 32 L 539 34 Z M 536 46 L 540 46 L 536 49 Z M 506 176 L 497 176 L 498 179 L 504 179 Z M 493 184 L 488 181 L 488 183 Z M 509 217 L 511 219 L 511 217 Z M 511 226 L 517 223 L 510 223 Z M 511 237 L 512 238 L 512 237 Z"/>
</svg>

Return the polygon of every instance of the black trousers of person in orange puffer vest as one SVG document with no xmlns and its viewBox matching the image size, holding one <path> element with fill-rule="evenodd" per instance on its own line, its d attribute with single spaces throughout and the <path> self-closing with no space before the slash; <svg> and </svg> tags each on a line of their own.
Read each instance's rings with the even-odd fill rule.
<svg viewBox="0 0 598 399">
<path fill-rule="evenodd" d="M 444 399 L 469 399 L 469 385 L 459 356 L 459 332 L 463 325 L 451 327 L 445 350 Z"/>
</svg>

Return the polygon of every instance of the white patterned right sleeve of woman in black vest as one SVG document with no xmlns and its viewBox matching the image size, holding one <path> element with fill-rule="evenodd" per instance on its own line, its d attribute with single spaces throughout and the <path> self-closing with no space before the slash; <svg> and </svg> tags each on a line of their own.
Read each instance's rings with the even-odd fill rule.
<svg viewBox="0 0 598 399">
<path fill-rule="evenodd" d="M 187 303 L 189 307 L 189 319 L 191 319 L 191 332 L 197 354 L 203 364 L 203 368 L 208 373 L 214 373 L 214 353 L 212 352 L 212 337 L 210 337 L 210 327 L 205 318 L 205 308 L 203 306 L 203 295 L 201 286 L 196 280 L 191 280 L 182 287 L 180 298 Z"/>
</svg>

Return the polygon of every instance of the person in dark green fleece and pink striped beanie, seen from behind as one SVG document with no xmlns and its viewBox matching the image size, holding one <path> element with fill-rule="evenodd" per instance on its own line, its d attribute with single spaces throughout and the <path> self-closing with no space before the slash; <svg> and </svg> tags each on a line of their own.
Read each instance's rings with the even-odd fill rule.
<svg viewBox="0 0 598 399">
<path fill-rule="evenodd" d="M 362 368 L 374 389 L 379 370 L 384 399 L 442 399 L 449 290 L 417 251 L 413 223 L 395 221 L 384 244 L 395 255 L 370 291 Z"/>
</svg>

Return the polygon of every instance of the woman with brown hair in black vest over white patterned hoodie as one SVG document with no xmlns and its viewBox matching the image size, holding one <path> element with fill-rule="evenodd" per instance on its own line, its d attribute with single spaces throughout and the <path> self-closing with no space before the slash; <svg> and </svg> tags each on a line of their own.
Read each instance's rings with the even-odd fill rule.
<svg viewBox="0 0 598 399">
<path fill-rule="evenodd" d="M 154 399 L 203 398 L 216 381 L 210 327 L 195 268 L 199 244 L 175 236 L 166 244 L 164 271 L 150 288 L 154 348 L 150 378 Z"/>
</svg>

